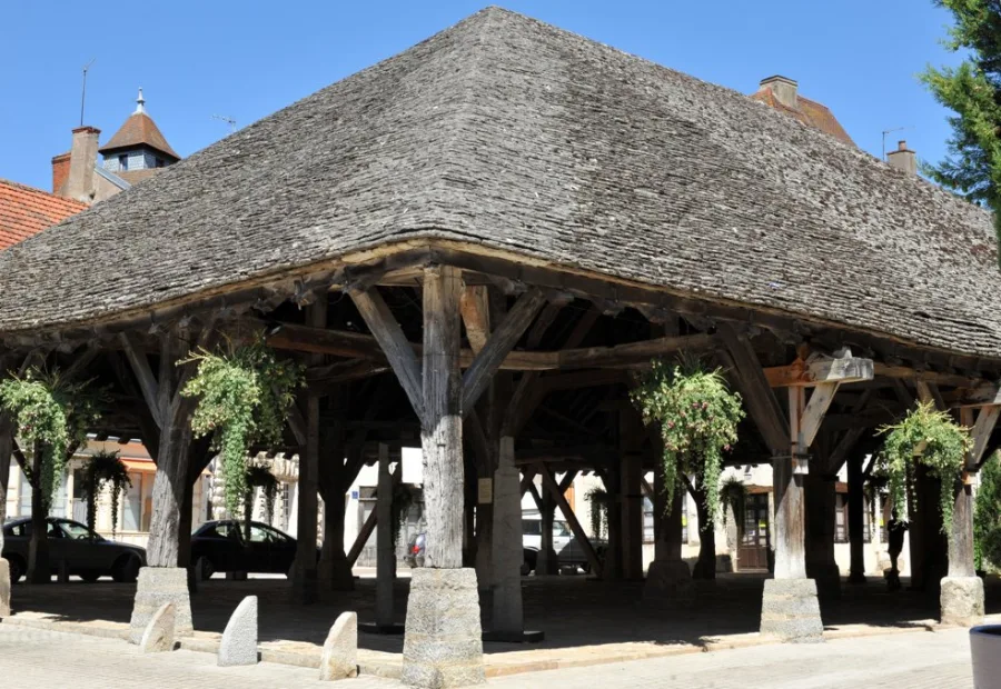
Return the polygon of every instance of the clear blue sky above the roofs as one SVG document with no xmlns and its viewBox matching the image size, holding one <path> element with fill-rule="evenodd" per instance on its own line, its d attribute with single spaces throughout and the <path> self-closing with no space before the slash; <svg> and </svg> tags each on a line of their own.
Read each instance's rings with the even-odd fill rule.
<svg viewBox="0 0 1001 689">
<path fill-rule="evenodd" d="M 948 112 L 915 78 L 954 63 L 940 44 L 950 16 L 931 0 L 536 0 L 504 7 L 743 92 L 766 76 L 800 82 L 855 142 L 879 156 L 884 129 L 908 127 L 919 156 L 945 153 Z M 50 159 L 80 118 L 103 143 L 147 110 L 188 156 L 448 27 L 483 0 L 12 2 L 0 22 L 0 178 L 49 189 Z"/>
</svg>

